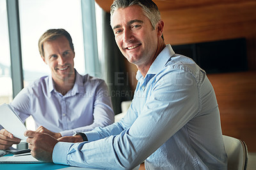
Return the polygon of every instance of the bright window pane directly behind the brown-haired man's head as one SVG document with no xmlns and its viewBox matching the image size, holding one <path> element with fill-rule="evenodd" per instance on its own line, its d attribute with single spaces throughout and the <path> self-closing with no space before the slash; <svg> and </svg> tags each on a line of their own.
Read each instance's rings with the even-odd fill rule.
<svg viewBox="0 0 256 170">
<path fill-rule="evenodd" d="M 38 40 L 47 29 L 63 28 L 70 33 L 75 68 L 85 73 L 81 0 L 19 0 L 19 13 L 24 86 L 51 73 L 38 51 Z"/>
</svg>

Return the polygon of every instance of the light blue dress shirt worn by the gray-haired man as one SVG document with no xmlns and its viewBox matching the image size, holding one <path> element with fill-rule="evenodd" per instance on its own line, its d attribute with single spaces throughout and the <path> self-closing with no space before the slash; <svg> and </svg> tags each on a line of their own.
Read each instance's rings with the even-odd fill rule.
<svg viewBox="0 0 256 170">
<path fill-rule="evenodd" d="M 56 164 L 131 169 L 227 169 L 220 112 L 209 79 L 166 45 L 145 78 L 136 78 L 125 117 L 86 132 L 84 143 L 57 143 Z"/>
</svg>

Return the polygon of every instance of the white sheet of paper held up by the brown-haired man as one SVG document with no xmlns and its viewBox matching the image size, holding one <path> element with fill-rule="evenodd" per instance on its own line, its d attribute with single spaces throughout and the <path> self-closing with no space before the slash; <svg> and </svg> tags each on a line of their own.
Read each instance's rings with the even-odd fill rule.
<svg viewBox="0 0 256 170">
<path fill-rule="evenodd" d="M 25 141 L 28 138 L 24 136 L 24 132 L 27 128 L 8 104 L 0 105 L 0 125 L 2 125 L 8 132 L 12 133 L 14 137 Z"/>
</svg>

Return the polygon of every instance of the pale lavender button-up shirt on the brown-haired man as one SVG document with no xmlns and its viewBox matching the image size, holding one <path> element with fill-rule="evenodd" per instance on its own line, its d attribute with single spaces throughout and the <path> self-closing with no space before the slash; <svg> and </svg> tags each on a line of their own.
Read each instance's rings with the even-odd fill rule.
<svg viewBox="0 0 256 170">
<path fill-rule="evenodd" d="M 76 81 L 66 95 L 54 89 L 51 76 L 41 77 L 13 99 L 10 104 L 25 121 L 33 116 L 40 125 L 62 136 L 90 131 L 114 122 L 108 86 L 102 79 L 76 72 Z"/>
</svg>

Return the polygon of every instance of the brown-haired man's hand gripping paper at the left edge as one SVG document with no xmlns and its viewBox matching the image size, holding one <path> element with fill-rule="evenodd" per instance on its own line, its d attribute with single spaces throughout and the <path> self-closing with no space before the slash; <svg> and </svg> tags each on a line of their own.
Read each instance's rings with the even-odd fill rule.
<svg viewBox="0 0 256 170">
<path fill-rule="evenodd" d="M 20 139 L 13 137 L 13 134 L 2 128 L 0 130 L 0 150 L 10 148 L 13 144 L 20 143 Z"/>
</svg>

